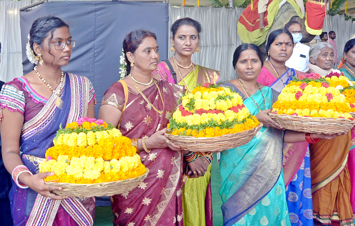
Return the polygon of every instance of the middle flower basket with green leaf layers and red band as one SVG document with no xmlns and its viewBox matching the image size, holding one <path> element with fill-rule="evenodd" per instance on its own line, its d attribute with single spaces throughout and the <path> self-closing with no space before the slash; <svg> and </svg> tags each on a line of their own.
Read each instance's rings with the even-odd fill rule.
<svg viewBox="0 0 355 226">
<path fill-rule="evenodd" d="M 240 95 L 230 88 L 198 84 L 182 96 L 181 102 L 170 116 L 166 136 L 186 150 L 224 150 L 244 145 L 261 127 Z M 203 147 L 204 144 L 210 145 Z"/>
</svg>

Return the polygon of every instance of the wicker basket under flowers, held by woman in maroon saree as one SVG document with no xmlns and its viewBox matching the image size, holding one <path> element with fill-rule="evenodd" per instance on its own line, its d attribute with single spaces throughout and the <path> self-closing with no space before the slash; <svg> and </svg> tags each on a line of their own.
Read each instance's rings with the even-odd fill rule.
<svg viewBox="0 0 355 226">
<path fill-rule="evenodd" d="M 172 140 L 184 150 L 189 151 L 223 151 L 230 148 L 239 147 L 247 144 L 255 134 L 260 130 L 262 124 L 255 128 L 242 131 L 239 133 L 225 134 L 220 137 L 189 137 L 178 136 L 165 133 L 165 137 Z"/>
</svg>

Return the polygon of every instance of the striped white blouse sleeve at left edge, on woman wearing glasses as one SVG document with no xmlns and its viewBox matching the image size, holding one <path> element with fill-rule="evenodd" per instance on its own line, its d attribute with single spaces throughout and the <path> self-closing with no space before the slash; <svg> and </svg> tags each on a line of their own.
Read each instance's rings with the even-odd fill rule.
<svg viewBox="0 0 355 226">
<path fill-rule="evenodd" d="M 2 86 L 0 92 L 0 109 L 7 108 L 10 111 L 18 111 L 23 115 L 25 103 L 25 96 L 20 84 L 11 81 Z"/>
</svg>

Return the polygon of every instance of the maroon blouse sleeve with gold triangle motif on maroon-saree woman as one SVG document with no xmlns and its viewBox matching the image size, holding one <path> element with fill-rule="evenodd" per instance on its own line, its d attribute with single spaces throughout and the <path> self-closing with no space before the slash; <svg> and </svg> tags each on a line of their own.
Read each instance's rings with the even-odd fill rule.
<svg viewBox="0 0 355 226">
<path fill-rule="evenodd" d="M 101 105 L 104 104 L 112 105 L 122 112 L 125 104 L 125 93 L 120 82 L 113 83 L 111 87 L 106 90 L 101 102 Z"/>
</svg>

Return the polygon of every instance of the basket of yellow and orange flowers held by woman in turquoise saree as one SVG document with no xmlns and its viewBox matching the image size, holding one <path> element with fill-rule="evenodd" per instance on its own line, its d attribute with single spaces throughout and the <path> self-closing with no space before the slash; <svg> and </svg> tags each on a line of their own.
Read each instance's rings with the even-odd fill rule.
<svg viewBox="0 0 355 226">
<path fill-rule="evenodd" d="M 352 86 L 345 76 L 331 72 L 295 76 L 280 93 L 269 114 L 286 129 L 316 133 L 343 133 L 354 126 L 344 87 Z"/>
</svg>

